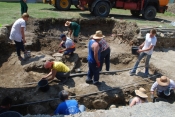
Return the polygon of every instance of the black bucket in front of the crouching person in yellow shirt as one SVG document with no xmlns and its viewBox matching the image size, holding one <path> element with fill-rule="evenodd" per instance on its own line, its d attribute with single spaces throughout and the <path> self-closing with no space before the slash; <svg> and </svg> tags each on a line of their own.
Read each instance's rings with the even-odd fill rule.
<svg viewBox="0 0 175 117">
<path fill-rule="evenodd" d="M 48 91 L 48 90 L 49 90 L 48 81 L 47 81 L 47 80 L 44 80 L 44 79 L 40 80 L 40 81 L 38 82 L 38 87 L 39 87 L 39 89 L 40 89 L 41 91 L 43 91 L 43 92 Z"/>
</svg>

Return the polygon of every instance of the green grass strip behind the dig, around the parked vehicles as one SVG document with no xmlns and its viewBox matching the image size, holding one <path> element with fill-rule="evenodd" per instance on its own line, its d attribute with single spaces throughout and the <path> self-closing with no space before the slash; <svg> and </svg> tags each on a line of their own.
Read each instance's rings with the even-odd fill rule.
<svg viewBox="0 0 175 117">
<path fill-rule="evenodd" d="M 43 3 L 28 3 L 28 13 L 31 17 L 35 18 L 92 18 L 90 12 L 81 11 L 76 9 L 74 5 L 71 6 L 69 11 L 58 11 L 49 4 Z M 0 24 L 11 24 L 19 17 L 21 17 L 20 11 L 20 3 L 18 2 L 0 2 Z M 172 21 L 175 19 L 175 14 L 166 12 L 165 14 L 158 13 L 156 18 L 159 18 L 160 21 L 148 21 L 140 18 L 131 17 L 131 13 L 129 10 L 123 9 L 115 9 L 113 8 L 110 11 L 110 17 L 114 17 L 119 20 L 126 20 L 129 22 L 137 22 L 138 25 L 142 26 L 163 26 L 163 27 L 171 27 L 168 23 L 162 24 L 161 19 L 171 19 Z"/>
</svg>

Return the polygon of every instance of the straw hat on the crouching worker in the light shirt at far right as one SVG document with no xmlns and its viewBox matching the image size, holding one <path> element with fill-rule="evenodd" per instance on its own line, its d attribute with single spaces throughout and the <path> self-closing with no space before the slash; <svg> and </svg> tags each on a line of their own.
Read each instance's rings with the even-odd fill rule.
<svg viewBox="0 0 175 117">
<path fill-rule="evenodd" d="M 168 86 L 170 84 L 170 79 L 166 76 L 161 76 L 157 78 L 156 81 L 160 86 Z"/>
</svg>

